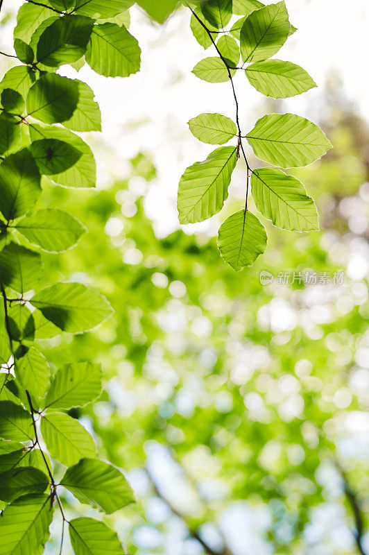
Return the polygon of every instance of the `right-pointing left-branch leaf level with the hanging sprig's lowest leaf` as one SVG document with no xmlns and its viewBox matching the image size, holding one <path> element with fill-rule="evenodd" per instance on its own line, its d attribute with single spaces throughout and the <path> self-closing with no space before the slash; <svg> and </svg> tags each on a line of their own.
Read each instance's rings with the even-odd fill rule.
<svg viewBox="0 0 369 555">
<path fill-rule="evenodd" d="M 16 228 L 28 241 L 48 251 L 62 253 L 77 244 L 85 227 L 76 218 L 59 208 L 42 208 L 27 214 Z"/>
</svg>

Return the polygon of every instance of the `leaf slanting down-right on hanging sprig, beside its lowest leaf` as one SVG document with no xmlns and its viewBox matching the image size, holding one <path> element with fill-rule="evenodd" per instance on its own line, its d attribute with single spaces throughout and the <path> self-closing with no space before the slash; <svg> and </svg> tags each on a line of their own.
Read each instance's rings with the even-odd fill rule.
<svg viewBox="0 0 369 555">
<path fill-rule="evenodd" d="M 252 172 L 252 198 L 257 210 L 278 228 L 289 231 L 319 229 L 314 200 L 307 196 L 304 185 L 293 176 L 276 168 Z"/>
</svg>

